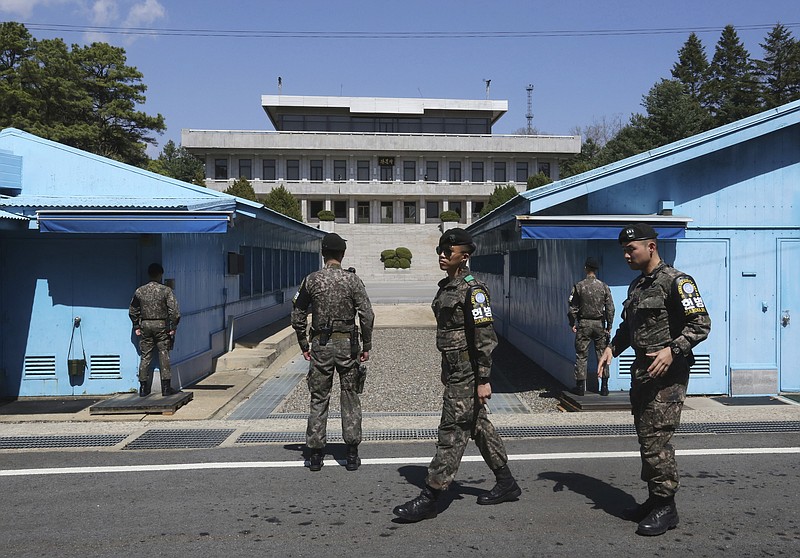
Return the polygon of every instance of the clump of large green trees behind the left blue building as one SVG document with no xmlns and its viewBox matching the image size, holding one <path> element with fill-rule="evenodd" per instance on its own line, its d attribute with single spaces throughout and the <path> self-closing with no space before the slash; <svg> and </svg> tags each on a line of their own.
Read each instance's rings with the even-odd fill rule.
<svg viewBox="0 0 800 558">
<path fill-rule="evenodd" d="M 106 43 L 69 48 L 33 39 L 20 23 L 0 24 L 0 127 L 146 166 L 164 117 L 137 110 L 147 87 L 126 62 L 123 49 Z"/>
</svg>

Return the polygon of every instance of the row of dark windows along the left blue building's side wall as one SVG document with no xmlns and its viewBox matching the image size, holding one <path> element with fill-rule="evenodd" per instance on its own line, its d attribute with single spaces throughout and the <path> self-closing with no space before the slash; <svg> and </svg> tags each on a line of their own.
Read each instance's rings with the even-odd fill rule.
<svg viewBox="0 0 800 558">
<path fill-rule="evenodd" d="M 239 298 L 299 285 L 303 277 L 319 269 L 319 254 L 242 246 L 244 269 L 239 270 Z"/>
</svg>

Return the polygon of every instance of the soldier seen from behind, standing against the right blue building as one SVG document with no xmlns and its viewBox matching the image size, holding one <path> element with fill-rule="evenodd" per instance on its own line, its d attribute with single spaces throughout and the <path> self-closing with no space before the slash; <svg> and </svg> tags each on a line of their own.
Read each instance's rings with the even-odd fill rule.
<svg viewBox="0 0 800 558">
<path fill-rule="evenodd" d="M 614 321 L 614 300 L 611 289 L 597 278 L 597 260 L 586 258 L 583 266 L 586 278 L 573 285 L 569 295 L 569 325 L 575 334 L 575 388 L 573 393 L 586 393 L 586 360 L 589 343 L 594 343 L 597 360 L 608 345 Z M 603 369 L 600 395 L 608 395 L 608 367 Z"/>
</svg>

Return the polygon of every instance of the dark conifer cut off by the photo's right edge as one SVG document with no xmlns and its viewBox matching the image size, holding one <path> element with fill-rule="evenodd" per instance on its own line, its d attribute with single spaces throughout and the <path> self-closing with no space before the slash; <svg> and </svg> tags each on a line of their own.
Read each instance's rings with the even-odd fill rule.
<svg viewBox="0 0 800 558">
<path fill-rule="evenodd" d="M 756 61 L 756 68 L 764 108 L 779 107 L 800 98 L 800 43 L 786 27 L 778 24 L 761 48 L 764 59 Z"/>
</svg>

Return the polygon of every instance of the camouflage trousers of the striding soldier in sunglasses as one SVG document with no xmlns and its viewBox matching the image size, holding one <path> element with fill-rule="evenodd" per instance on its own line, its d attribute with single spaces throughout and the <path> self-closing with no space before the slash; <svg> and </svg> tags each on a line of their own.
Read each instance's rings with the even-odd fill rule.
<svg viewBox="0 0 800 558">
<path fill-rule="evenodd" d="M 442 353 L 442 380 L 445 388 L 439 440 L 425 479 L 434 489 L 450 485 L 470 438 L 493 471 L 508 462 L 502 438 L 489 421 L 486 408 L 478 403 L 475 369 L 467 351 Z"/>
</svg>

